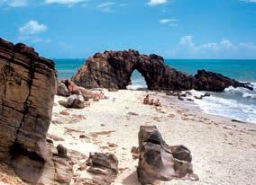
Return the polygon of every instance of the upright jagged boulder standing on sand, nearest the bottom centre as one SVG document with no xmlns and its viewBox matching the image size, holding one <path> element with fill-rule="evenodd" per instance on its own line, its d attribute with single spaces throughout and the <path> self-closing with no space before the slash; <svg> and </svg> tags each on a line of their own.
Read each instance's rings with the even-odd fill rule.
<svg viewBox="0 0 256 185">
<path fill-rule="evenodd" d="M 184 145 L 167 145 L 155 126 L 141 127 L 139 154 L 137 174 L 143 185 L 173 179 L 198 180 L 189 150 Z"/>
</svg>

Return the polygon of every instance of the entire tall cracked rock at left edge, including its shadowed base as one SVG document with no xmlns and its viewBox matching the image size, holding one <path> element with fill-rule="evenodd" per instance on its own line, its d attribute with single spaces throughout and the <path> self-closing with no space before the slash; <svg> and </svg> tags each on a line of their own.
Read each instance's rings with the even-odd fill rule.
<svg viewBox="0 0 256 185">
<path fill-rule="evenodd" d="M 33 48 L 0 39 L 0 161 L 32 184 L 69 181 L 59 175 L 70 170 L 67 162 L 46 143 L 56 76 L 54 63 Z"/>
</svg>

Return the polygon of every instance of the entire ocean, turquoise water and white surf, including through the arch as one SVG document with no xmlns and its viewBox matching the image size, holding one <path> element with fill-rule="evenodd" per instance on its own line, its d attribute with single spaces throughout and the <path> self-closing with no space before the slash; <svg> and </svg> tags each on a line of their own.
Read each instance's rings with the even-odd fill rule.
<svg viewBox="0 0 256 185">
<path fill-rule="evenodd" d="M 85 62 L 84 59 L 55 59 L 59 79 L 70 78 Z M 197 105 L 206 113 L 224 116 L 256 123 L 256 60 L 206 60 L 206 59 L 166 59 L 169 66 L 186 72 L 189 75 L 197 73 L 198 69 L 220 73 L 241 82 L 250 82 L 254 91 L 243 88 L 229 87 L 223 93 L 211 93 L 210 97 L 195 100 Z M 132 75 L 130 89 L 146 88 L 144 78 L 138 71 Z M 191 91 L 195 95 L 205 92 Z"/>
</svg>

